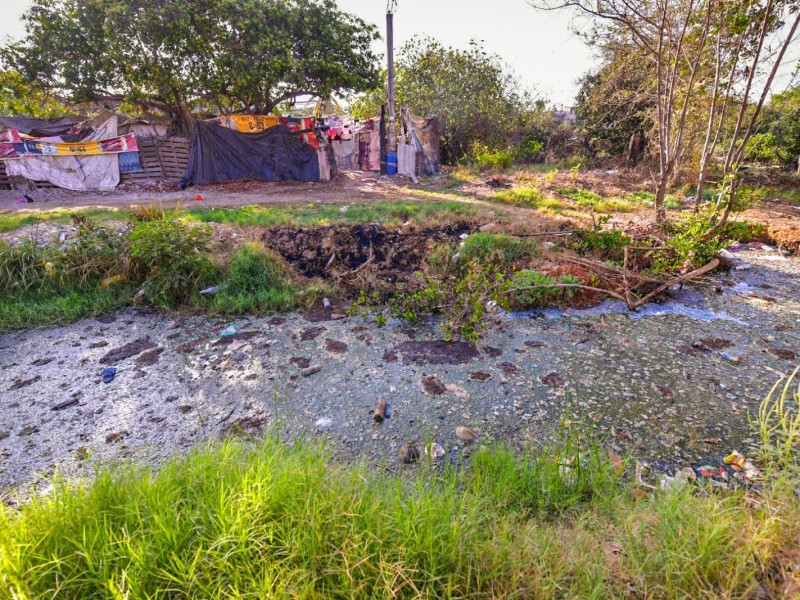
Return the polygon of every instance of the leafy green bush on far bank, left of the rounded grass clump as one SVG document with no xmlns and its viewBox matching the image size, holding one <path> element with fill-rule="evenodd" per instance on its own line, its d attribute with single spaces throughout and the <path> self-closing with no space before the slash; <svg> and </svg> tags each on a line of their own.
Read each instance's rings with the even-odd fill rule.
<svg viewBox="0 0 800 600">
<path fill-rule="evenodd" d="M 208 258 L 211 229 L 167 217 L 143 221 L 130 237 L 131 269 L 153 304 L 174 307 L 188 301 L 213 265 Z"/>
</svg>

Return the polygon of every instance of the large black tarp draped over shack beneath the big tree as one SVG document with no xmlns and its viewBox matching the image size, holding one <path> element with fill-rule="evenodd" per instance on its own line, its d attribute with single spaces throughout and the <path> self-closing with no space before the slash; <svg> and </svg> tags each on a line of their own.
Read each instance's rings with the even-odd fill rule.
<svg viewBox="0 0 800 600">
<path fill-rule="evenodd" d="M 181 188 L 239 179 L 319 181 L 317 151 L 280 125 L 243 133 L 196 123 Z"/>
</svg>

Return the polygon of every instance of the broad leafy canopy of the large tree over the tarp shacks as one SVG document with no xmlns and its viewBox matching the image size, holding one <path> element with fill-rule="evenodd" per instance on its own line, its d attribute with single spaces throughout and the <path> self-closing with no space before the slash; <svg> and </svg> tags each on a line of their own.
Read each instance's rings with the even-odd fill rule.
<svg viewBox="0 0 800 600">
<path fill-rule="evenodd" d="M 378 82 L 376 29 L 334 0 L 34 0 L 3 50 L 31 84 L 180 116 L 266 113 Z"/>
</svg>

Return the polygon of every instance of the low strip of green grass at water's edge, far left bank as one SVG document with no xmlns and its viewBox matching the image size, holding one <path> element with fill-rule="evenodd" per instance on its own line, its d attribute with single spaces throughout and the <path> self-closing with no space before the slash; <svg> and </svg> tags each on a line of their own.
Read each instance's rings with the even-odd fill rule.
<svg viewBox="0 0 800 600">
<path fill-rule="evenodd" d="M 0 333 L 14 329 L 50 327 L 102 315 L 125 306 L 128 286 L 75 285 L 52 293 L 0 295 Z"/>
</svg>

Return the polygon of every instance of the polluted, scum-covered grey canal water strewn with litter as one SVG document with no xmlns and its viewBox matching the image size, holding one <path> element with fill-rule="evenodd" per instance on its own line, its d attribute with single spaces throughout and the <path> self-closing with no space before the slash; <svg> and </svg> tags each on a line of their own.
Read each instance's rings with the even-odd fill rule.
<svg viewBox="0 0 800 600">
<path fill-rule="evenodd" d="M 124 311 L 0 336 L 0 489 L 269 427 L 325 435 L 345 457 L 396 469 L 415 468 L 400 462 L 408 440 L 456 456 L 455 429 L 466 426 L 477 444 L 535 446 L 565 414 L 617 451 L 664 463 L 746 452 L 748 412 L 800 362 L 800 269 L 741 256 L 750 269 L 643 314 L 497 315 L 477 349 L 444 342 L 434 323 L 300 314 L 172 321 Z M 238 333 L 221 337 L 232 323 Z M 117 374 L 106 385 L 107 366 Z M 379 399 L 389 404 L 382 424 L 371 415 Z"/>
</svg>

